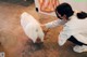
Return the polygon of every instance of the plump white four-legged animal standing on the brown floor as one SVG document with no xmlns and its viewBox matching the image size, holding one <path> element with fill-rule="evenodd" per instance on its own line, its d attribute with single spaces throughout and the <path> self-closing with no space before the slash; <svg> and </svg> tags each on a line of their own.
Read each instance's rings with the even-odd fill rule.
<svg viewBox="0 0 87 57">
<path fill-rule="evenodd" d="M 21 25 L 26 35 L 33 40 L 34 43 L 44 42 L 44 32 L 40 24 L 28 13 L 24 12 L 21 15 Z"/>
</svg>

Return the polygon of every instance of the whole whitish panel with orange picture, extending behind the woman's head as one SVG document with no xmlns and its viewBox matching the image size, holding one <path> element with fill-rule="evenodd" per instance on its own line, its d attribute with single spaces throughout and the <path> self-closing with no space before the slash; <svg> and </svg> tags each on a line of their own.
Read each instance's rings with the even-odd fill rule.
<svg viewBox="0 0 87 57">
<path fill-rule="evenodd" d="M 70 3 L 74 11 L 87 12 L 87 0 L 35 0 L 36 11 L 55 16 L 55 6 L 63 2 Z"/>
</svg>

